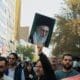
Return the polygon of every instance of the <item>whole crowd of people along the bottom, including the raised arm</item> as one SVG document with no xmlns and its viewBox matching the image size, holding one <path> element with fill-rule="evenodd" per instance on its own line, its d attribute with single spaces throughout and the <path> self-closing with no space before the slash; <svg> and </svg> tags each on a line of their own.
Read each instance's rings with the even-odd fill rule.
<svg viewBox="0 0 80 80">
<path fill-rule="evenodd" d="M 38 55 L 36 62 L 21 61 L 16 53 L 10 53 L 7 58 L 0 56 L 0 80 L 63 80 L 80 76 L 80 66 L 78 69 L 73 66 L 70 53 L 65 52 L 61 58 L 48 58 L 38 46 Z"/>
</svg>

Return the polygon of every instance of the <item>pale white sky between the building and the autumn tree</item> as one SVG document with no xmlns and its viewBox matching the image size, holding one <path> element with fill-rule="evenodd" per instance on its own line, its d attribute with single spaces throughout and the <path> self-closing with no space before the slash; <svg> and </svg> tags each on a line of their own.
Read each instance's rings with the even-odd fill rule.
<svg viewBox="0 0 80 80">
<path fill-rule="evenodd" d="M 63 0 L 22 0 L 20 25 L 31 28 L 36 12 L 54 18 L 55 14 L 60 13 L 62 2 Z M 50 53 L 51 48 L 44 48 L 43 51 Z"/>
</svg>

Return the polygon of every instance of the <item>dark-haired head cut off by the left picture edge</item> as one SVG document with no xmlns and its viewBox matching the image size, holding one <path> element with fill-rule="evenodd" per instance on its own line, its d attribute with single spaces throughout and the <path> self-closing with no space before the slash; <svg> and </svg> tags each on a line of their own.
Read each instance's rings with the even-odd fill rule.
<svg viewBox="0 0 80 80">
<path fill-rule="evenodd" d="M 7 67 L 7 59 L 4 57 L 0 57 L 0 77 L 3 76 Z"/>
</svg>

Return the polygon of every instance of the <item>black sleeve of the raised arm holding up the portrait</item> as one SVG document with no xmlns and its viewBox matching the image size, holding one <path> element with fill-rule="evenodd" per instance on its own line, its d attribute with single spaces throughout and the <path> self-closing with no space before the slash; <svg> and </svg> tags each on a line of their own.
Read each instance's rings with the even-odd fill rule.
<svg viewBox="0 0 80 80">
<path fill-rule="evenodd" d="M 43 53 L 39 56 L 44 70 L 44 76 L 40 77 L 40 80 L 56 80 L 56 76 L 48 58 Z"/>
</svg>

